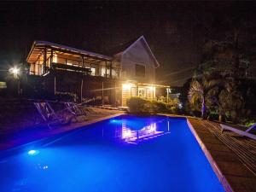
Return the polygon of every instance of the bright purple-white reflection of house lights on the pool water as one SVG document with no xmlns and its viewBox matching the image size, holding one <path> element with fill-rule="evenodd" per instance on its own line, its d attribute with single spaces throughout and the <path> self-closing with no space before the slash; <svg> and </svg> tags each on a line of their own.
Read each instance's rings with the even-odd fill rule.
<svg viewBox="0 0 256 192">
<path fill-rule="evenodd" d="M 125 143 L 139 143 L 170 133 L 168 120 L 164 122 L 143 122 L 143 125 L 140 124 L 140 122 L 131 122 L 129 119 L 115 120 L 112 121 L 112 123 L 118 125 L 114 127 L 113 137 Z M 102 134 L 103 132 L 104 131 L 102 131 Z"/>
</svg>

